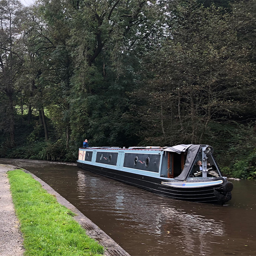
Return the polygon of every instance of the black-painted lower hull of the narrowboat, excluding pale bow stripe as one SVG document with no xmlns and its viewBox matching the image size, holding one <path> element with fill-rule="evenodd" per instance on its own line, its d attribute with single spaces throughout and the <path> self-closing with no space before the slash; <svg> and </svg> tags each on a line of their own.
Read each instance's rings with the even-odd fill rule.
<svg viewBox="0 0 256 256">
<path fill-rule="evenodd" d="M 77 162 L 77 166 L 84 170 L 112 178 L 114 180 L 119 180 L 124 183 L 137 186 L 139 188 L 154 192 L 158 195 L 164 195 L 170 198 L 175 198 L 179 200 L 194 201 L 201 203 L 218 203 L 223 204 L 224 201 L 219 201 L 214 195 L 214 190 L 220 188 L 222 185 L 207 186 L 201 188 L 180 188 L 171 187 L 161 184 L 162 181 L 169 181 L 159 179 L 157 177 L 148 177 L 145 175 L 133 174 L 129 172 L 122 172 L 115 169 L 108 169 L 100 166 L 93 166 L 86 163 Z M 215 178 L 212 180 L 223 180 L 227 183 L 223 177 Z M 176 180 L 175 182 L 183 182 Z M 189 181 L 188 181 L 189 182 Z M 195 182 L 195 181 L 191 181 Z M 228 200 L 227 200 L 228 201 Z"/>
</svg>

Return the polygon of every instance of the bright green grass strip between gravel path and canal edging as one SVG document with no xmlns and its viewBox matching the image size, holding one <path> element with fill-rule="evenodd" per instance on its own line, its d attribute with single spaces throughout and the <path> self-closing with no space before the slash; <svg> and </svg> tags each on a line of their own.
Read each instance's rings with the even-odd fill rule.
<svg viewBox="0 0 256 256">
<path fill-rule="evenodd" d="M 8 172 L 26 256 L 91 256 L 104 249 L 53 195 L 22 170 Z"/>
</svg>

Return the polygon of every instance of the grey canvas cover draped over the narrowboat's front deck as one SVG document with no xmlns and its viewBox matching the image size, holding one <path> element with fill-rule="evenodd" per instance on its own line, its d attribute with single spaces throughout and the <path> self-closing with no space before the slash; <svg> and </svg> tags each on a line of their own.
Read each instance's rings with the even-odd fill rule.
<svg viewBox="0 0 256 256">
<path fill-rule="evenodd" d="M 186 163 L 185 163 L 184 169 L 179 176 L 175 177 L 175 180 L 186 180 L 186 178 L 189 175 L 189 171 L 191 170 L 192 165 L 195 161 L 195 158 L 198 155 L 198 151 L 200 147 L 201 145 L 193 145 L 193 144 L 183 145 L 182 144 L 182 145 L 176 145 L 176 146 L 164 149 L 164 151 L 174 152 L 178 154 L 181 154 L 182 152 L 185 152 L 186 150 L 189 149 L 186 157 Z"/>
</svg>

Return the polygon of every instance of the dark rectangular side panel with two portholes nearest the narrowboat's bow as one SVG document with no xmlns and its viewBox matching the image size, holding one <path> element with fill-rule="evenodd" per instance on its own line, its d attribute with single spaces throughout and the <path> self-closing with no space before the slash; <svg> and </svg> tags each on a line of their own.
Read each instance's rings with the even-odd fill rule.
<svg viewBox="0 0 256 256">
<path fill-rule="evenodd" d="M 148 172 L 159 172 L 159 166 L 159 154 L 125 153 L 124 167 Z"/>
</svg>

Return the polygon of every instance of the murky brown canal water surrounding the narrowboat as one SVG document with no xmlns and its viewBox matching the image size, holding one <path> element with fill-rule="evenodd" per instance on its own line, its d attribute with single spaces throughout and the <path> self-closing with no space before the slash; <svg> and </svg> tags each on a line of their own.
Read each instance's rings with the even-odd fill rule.
<svg viewBox="0 0 256 256">
<path fill-rule="evenodd" d="M 76 167 L 0 159 L 29 170 L 111 236 L 132 256 L 256 255 L 256 182 L 231 180 L 227 205 L 155 195 Z"/>
</svg>

